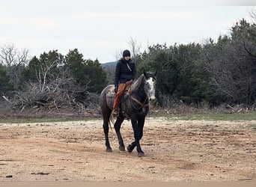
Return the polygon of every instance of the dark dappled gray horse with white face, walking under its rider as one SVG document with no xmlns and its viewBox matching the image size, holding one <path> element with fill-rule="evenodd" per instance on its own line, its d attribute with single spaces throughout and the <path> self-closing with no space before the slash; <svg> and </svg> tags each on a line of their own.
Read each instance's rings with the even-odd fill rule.
<svg viewBox="0 0 256 187">
<path fill-rule="evenodd" d="M 112 105 L 115 96 L 114 85 L 108 85 L 100 94 L 100 107 L 103 114 L 103 129 L 106 139 L 106 151 L 112 152 L 109 144 L 109 126 L 114 121 L 112 116 Z M 138 156 L 144 156 L 139 141 L 143 135 L 145 117 L 149 111 L 149 101 L 156 99 L 156 72 L 144 72 L 135 82 L 132 82 L 127 93 L 121 99 L 120 112 L 114 127 L 118 135 L 119 150 L 124 151 L 124 141 L 120 133 L 121 124 L 124 119 L 131 119 L 135 141 L 129 144 L 129 153 L 137 147 Z"/>
</svg>

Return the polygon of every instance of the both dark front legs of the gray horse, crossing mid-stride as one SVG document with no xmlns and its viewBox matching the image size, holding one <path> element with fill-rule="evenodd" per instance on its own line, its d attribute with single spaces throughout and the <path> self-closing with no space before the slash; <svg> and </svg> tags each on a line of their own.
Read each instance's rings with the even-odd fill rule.
<svg viewBox="0 0 256 187">
<path fill-rule="evenodd" d="M 143 127 L 144 127 L 144 117 L 138 120 L 137 118 L 132 119 L 132 129 L 133 129 L 135 141 L 132 142 L 132 144 L 129 144 L 129 146 L 127 147 L 127 150 L 129 151 L 129 153 L 131 153 L 134 147 L 136 146 L 138 156 L 144 156 L 144 152 L 141 150 L 141 144 L 139 143 L 139 141 L 143 136 Z"/>
</svg>

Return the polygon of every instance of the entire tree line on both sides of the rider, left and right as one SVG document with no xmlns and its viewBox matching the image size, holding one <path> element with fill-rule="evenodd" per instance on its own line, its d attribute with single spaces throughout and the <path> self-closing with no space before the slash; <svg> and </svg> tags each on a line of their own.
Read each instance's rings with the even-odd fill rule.
<svg viewBox="0 0 256 187">
<path fill-rule="evenodd" d="M 132 40 L 132 54 L 138 73 L 157 71 L 156 96 L 161 107 L 175 102 L 210 107 L 256 103 L 256 25 L 241 19 L 229 34 L 203 43 L 156 44 L 138 52 Z M 91 93 L 99 94 L 113 83 L 112 68 L 99 61 L 85 60 L 78 49 L 67 55 L 58 50 L 28 59 L 28 51 L 1 47 L 0 93 L 7 102 L 22 108 L 34 105 L 81 108 Z M 29 94 L 28 94 L 29 93 Z M 58 93 L 58 94 L 57 94 Z M 32 98 L 32 99 L 31 99 Z M 91 102 L 97 96 L 91 98 Z M 49 106 L 52 101 L 52 106 Z M 62 104 L 61 104 L 62 103 Z"/>
</svg>

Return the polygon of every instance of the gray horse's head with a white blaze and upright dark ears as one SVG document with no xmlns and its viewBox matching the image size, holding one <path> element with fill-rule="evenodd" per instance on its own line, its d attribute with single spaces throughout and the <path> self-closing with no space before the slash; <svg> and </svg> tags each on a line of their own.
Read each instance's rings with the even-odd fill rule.
<svg viewBox="0 0 256 187">
<path fill-rule="evenodd" d="M 156 99 L 156 72 L 143 71 L 143 73 L 145 77 L 144 91 L 146 92 L 148 99 Z"/>
</svg>

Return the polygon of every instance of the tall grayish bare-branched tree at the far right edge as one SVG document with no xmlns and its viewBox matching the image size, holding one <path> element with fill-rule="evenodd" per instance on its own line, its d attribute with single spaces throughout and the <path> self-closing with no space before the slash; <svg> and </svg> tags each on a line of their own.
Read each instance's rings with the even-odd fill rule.
<svg viewBox="0 0 256 187">
<path fill-rule="evenodd" d="M 255 24 L 242 19 L 231 28 L 231 36 L 219 37 L 206 55 L 212 84 L 229 102 L 246 105 L 255 102 L 255 31 Z"/>
</svg>

